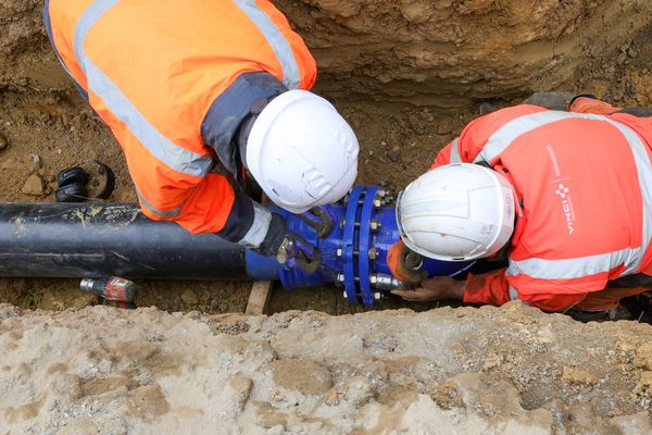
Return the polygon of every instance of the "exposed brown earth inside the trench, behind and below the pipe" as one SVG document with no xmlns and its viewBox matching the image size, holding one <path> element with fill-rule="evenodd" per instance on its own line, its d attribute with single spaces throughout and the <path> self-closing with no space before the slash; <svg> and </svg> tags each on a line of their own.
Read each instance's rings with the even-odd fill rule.
<svg viewBox="0 0 652 435">
<path fill-rule="evenodd" d="M 532 91 L 592 91 L 623 105 L 650 105 L 650 12 L 630 2 L 510 0 L 279 1 L 319 65 L 315 91 L 351 123 L 360 144 L 359 184 L 400 190 L 479 114 Z M 55 174 L 86 159 L 111 165 L 111 201 L 136 195 L 109 130 L 76 95 L 52 54 L 38 0 L 0 4 L 0 201 L 53 201 Z M 601 32 L 611 23 L 606 33 Z M 614 25 L 614 23 L 617 23 Z M 590 44 L 589 44 L 590 42 Z M 26 192 L 37 176 L 40 186 Z M 138 282 L 139 304 L 166 311 L 243 311 L 251 283 Z M 64 310 L 102 303 L 78 279 L 0 278 L 0 302 Z M 436 304 L 381 301 L 376 309 Z M 271 312 L 346 314 L 335 287 L 274 288 Z"/>
</svg>

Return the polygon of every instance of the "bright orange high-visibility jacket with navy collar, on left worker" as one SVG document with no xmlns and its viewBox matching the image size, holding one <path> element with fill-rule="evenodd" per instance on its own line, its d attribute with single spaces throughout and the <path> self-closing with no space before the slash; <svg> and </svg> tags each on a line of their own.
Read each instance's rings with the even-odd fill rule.
<svg viewBox="0 0 652 435">
<path fill-rule="evenodd" d="M 143 212 L 218 232 L 239 123 L 260 98 L 310 89 L 316 65 L 267 0 L 49 0 L 65 70 L 121 144 Z"/>
</svg>

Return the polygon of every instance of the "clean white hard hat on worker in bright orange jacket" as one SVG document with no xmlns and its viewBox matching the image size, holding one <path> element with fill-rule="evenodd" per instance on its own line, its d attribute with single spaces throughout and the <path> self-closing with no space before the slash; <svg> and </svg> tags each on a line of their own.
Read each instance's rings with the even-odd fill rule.
<svg viewBox="0 0 652 435">
<path fill-rule="evenodd" d="M 333 104 L 306 90 L 289 90 L 253 123 L 247 167 L 277 206 L 302 213 L 349 191 L 358 151 L 355 134 Z"/>
</svg>

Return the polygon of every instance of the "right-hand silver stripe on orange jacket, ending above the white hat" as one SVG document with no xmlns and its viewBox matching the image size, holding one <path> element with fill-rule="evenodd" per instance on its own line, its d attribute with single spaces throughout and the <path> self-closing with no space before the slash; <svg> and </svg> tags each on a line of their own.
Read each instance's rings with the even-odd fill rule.
<svg viewBox="0 0 652 435">
<path fill-rule="evenodd" d="M 267 44 L 274 50 L 283 67 L 283 84 L 288 89 L 298 89 L 301 85 L 299 65 L 297 65 L 292 48 L 283 33 L 276 27 L 272 18 L 255 4 L 254 0 L 234 0 L 234 2 L 249 16 L 249 20 L 256 25 L 265 39 L 267 39 Z"/>
</svg>

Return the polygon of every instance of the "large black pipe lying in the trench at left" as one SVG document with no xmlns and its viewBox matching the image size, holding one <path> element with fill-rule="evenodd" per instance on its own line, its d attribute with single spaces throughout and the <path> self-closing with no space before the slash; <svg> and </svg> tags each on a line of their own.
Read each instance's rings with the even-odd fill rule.
<svg viewBox="0 0 652 435">
<path fill-rule="evenodd" d="M 260 258 L 252 276 L 251 257 L 215 235 L 151 221 L 136 204 L 0 204 L 0 276 L 274 277 L 275 261 Z"/>
</svg>

